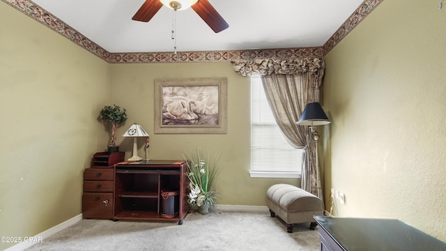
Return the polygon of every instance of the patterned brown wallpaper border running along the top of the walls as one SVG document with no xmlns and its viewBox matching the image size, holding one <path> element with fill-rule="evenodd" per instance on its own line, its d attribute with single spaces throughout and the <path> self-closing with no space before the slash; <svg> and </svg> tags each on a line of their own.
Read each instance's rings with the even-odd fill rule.
<svg viewBox="0 0 446 251">
<path fill-rule="evenodd" d="M 323 57 L 330 52 L 347 34 L 364 20 L 379 3 L 384 0 L 364 0 L 363 3 L 348 17 L 348 20 L 321 47 L 300 47 L 267 50 L 228 50 L 199 52 L 129 52 L 110 53 L 86 36 L 76 31 L 65 22 L 48 13 L 30 0 L 1 0 L 20 10 L 49 29 L 68 38 L 85 50 L 95 54 L 109 63 L 198 63 L 198 62 L 228 62 L 253 59 L 293 59 L 302 57 Z"/>
</svg>

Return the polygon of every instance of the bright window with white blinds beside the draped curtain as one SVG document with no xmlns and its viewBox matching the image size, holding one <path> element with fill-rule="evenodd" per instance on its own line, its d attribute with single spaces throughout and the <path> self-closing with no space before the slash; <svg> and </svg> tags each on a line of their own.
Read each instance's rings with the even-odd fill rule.
<svg viewBox="0 0 446 251">
<path fill-rule="evenodd" d="M 251 77 L 251 177 L 299 178 L 302 150 L 282 135 L 266 100 L 261 77 Z"/>
</svg>

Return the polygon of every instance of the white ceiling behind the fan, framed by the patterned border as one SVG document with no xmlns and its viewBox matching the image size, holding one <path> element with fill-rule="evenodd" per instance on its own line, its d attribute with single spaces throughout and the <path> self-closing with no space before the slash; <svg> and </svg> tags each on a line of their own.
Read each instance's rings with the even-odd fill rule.
<svg viewBox="0 0 446 251">
<path fill-rule="evenodd" d="M 174 10 L 132 17 L 145 0 L 33 0 L 108 52 L 171 52 Z M 176 13 L 178 51 L 322 46 L 363 0 L 209 0 L 229 24 L 214 33 L 188 8 Z"/>
</svg>

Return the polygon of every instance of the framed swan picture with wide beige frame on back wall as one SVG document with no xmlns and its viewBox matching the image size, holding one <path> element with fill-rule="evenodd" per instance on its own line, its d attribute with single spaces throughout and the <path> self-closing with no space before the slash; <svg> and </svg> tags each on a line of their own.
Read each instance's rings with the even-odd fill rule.
<svg viewBox="0 0 446 251">
<path fill-rule="evenodd" d="M 155 133 L 226 133 L 227 82 L 155 79 Z"/>
</svg>

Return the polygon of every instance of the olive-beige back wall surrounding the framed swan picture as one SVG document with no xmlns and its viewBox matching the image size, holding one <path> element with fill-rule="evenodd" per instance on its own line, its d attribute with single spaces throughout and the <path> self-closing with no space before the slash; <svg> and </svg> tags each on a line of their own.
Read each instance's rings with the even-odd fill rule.
<svg viewBox="0 0 446 251">
<path fill-rule="evenodd" d="M 293 183 L 295 179 L 249 177 L 249 78 L 234 72 L 231 63 L 138 63 L 114 64 L 111 67 L 111 100 L 128 110 L 128 121 L 118 128 L 122 135 L 137 122 L 151 135 L 149 157 L 182 159 L 190 150 L 203 149 L 210 155 L 221 155 L 217 192 L 218 204 L 266 205 L 266 190 L 275 183 Z M 154 79 L 187 77 L 227 77 L 228 106 L 226 134 L 155 134 Z M 118 137 L 121 151 L 130 158 L 132 139 Z M 139 156 L 144 156 L 139 141 Z"/>
</svg>

